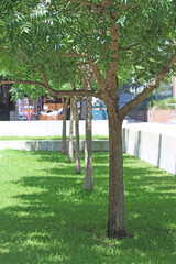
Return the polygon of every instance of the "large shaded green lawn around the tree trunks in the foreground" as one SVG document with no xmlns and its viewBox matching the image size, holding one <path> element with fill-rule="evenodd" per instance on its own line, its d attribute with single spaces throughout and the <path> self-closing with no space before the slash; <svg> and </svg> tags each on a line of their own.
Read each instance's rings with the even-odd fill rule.
<svg viewBox="0 0 176 264">
<path fill-rule="evenodd" d="M 84 169 L 59 152 L 0 151 L 0 264 L 175 264 L 176 178 L 124 155 L 125 218 L 132 239 L 107 238 L 108 153 Z M 84 156 L 82 156 L 84 167 Z"/>
</svg>

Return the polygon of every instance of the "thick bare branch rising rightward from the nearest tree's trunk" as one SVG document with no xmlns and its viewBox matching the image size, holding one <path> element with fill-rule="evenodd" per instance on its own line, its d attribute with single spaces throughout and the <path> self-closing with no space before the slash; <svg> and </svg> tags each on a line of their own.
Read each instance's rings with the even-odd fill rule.
<svg viewBox="0 0 176 264">
<path fill-rule="evenodd" d="M 124 107 L 121 108 L 120 114 L 124 118 L 128 112 L 130 112 L 134 107 L 141 103 L 158 85 L 160 81 L 165 77 L 165 75 L 170 70 L 172 66 L 176 63 L 176 53 L 169 59 L 169 62 L 162 68 L 156 78 L 151 81 L 147 87 L 133 100 L 128 102 Z"/>
</svg>

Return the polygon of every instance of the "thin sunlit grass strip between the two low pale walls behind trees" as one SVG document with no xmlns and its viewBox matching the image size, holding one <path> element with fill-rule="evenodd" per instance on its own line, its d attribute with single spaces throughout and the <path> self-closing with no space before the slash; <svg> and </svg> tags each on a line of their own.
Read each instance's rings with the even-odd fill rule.
<svg viewBox="0 0 176 264">
<path fill-rule="evenodd" d="M 69 138 L 67 136 L 67 140 Z M 75 136 L 74 136 L 75 139 Z M 92 135 L 92 140 L 108 140 L 106 135 Z M 20 141 L 20 140 L 62 140 L 62 135 L 56 136 L 0 136 L 0 141 Z M 80 140 L 85 140 L 85 135 L 80 135 Z"/>
</svg>

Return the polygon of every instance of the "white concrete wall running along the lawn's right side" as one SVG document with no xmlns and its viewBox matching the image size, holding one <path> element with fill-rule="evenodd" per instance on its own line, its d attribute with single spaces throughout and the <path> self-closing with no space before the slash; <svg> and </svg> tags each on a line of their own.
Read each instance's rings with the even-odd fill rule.
<svg viewBox="0 0 176 264">
<path fill-rule="evenodd" d="M 123 152 L 176 175 L 176 127 L 127 125 Z"/>
</svg>

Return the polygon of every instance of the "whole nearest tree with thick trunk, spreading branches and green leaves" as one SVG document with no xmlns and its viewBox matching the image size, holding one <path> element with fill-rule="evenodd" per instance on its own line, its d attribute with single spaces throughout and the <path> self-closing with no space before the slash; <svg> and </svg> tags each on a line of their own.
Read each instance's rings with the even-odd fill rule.
<svg viewBox="0 0 176 264">
<path fill-rule="evenodd" d="M 29 2 L 35 6 L 34 1 Z M 62 92 L 63 96 L 97 96 L 107 105 L 110 146 L 108 235 L 122 239 L 127 235 L 122 122 L 128 112 L 142 102 L 168 72 L 175 73 L 176 2 L 172 0 L 53 0 L 52 3 L 51 1 L 40 2 L 33 11 L 29 4 L 24 7 L 25 1 L 23 0 L 23 10 L 21 7 L 19 9 L 25 18 L 19 21 L 19 24 L 26 25 L 26 21 L 31 23 L 34 30 L 32 26 L 28 26 L 28 29 L 30 32 L 35 32 L 35 42 L 33 40 L 30 45 L 26 44 L 30 34 L 22 32 L 19 36 L 19 30 L 15 30 L 12 43 L 6 42 L 7 45 L 4 45 L 3 40 L 1 53 L 4 56 L 4 48 L 11 47 L 12 44 L 13 48 L 18 51 L 21 41 L 19 50 L 23 50 L 24 54 L 34 51 L 33 59 L 36 54 L 42 57 L 42 51 L 45 51 L 45 56 L 42 58 L 48 67 L 54 65 L 51 62 L 50 51 L 52 51 L 52 59 L 57 64 L 66 58 L 70 65 L 74 59 L 74 65 L 85 63 L 91 66 L 99 91 L 53 92 L 57 96 Z M 45 19 L 42 16 L 41 20 L 37 20 L 37 33 L 34 18 L 36 15 L 34 14 L 41 8 L 46 12 Z M 29 15 L 25 15 L 26 10 L 31 12 L 30 19 Z M 14 18 L 13 21 L 16 22 Z M 11 30 L 6 31 L 8 36 L 10 33 Z M 41 42 L 41 38 L 45 41 Z M 37 48 L 35 47 L 36 43 Z M 54 48 L 54 46 L 56 47 Z M 12 53 L 11 55 L 14 56 Z M 124 72 L 139 81 L 145 79 L 148 85 L 143 92 L 120 109 L 118 87 Z M 50 74 L 47 78 L 51 79 Z M 38 82 L 37 85 L 43 86 Z M 47 89 L 52 89 L 51 86 L 47 86 Z"/>
</svg>

